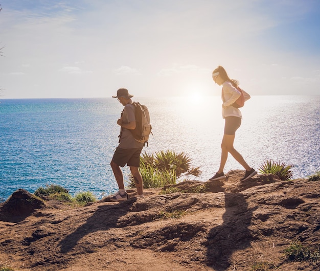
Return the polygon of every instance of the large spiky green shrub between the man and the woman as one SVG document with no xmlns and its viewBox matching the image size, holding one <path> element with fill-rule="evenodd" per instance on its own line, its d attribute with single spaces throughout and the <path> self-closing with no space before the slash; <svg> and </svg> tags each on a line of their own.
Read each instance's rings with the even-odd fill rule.
<svg viewBox="0 0 320 271">
<path fill-rule="evenodd" d="M 140 157 L 140 173 L 144 188 L 158 188 L 176 184 L 181 176 L 201 174 L 199 167 L 191 166 L 191 159 L 184 153 L 159 151 L 152 154 L 143 153 Z M 134 188 L 133 176 L 129 176 L 129 187 Z"/>
</svg>

